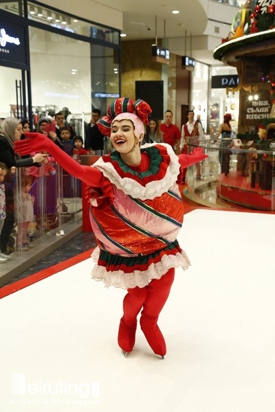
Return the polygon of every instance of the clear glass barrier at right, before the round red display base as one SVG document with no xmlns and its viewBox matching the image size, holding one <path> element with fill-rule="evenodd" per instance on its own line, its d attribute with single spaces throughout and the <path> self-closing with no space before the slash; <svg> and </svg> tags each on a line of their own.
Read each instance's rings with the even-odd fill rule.
<svg viewBox="0 0 275 412">
<path fill-rule="evenodd" d="M 275 211 L 275 129 L 267 140 L 251 136 L 216 143 L 192 139 L 208 159 L 187 171 L 187 198 L 212 207 Z"/>
</svg>

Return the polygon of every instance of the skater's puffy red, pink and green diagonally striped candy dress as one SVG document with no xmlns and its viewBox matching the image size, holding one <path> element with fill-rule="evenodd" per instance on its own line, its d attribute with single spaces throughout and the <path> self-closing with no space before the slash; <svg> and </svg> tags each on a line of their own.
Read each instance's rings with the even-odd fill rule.
<svg viewBox="0 0 275 412">
<path fill-rule="evenodd" d="M 177 177 L 179 159 L 167 144 L 142 146 L 142 162 L 129 167 L 118 152 L 94 167 L 104 175 L 100 190 L 89 188 L 91 226 L 98 247 L 91 277 L 106 286 L 146 286 L 168 269 L 188 268 L 177 242 L 184 205 Z"/>
</svg>

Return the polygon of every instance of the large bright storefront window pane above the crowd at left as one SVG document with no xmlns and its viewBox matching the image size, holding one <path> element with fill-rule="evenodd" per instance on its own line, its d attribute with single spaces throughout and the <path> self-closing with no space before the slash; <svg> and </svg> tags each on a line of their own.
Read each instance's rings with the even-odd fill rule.
<svg viewBox="0 0 275 412">
<path fill-rule="evenodd" d="M 91 111 L 89 43 L 30 27 L 34 125 L 66 108 Z"/>
</svg>

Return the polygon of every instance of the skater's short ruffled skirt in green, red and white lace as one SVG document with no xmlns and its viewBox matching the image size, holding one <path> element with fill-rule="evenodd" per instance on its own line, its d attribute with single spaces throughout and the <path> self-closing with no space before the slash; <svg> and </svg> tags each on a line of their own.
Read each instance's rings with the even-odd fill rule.
<svg viewBox="0 0 275 412">
<path fill-rule="evenodd" d="M 155 253 L 134 258 L 112 255 L 97 247 L 91 258 L 96 262 L 91 278 L 101 280 L 107 287 L 122 289 L 144 288 L 152 279 L 160 279 L 170 268 L 181 267 L 185 271 L 190 266 L 190 260 L 177 240 Z"/>
</svg>

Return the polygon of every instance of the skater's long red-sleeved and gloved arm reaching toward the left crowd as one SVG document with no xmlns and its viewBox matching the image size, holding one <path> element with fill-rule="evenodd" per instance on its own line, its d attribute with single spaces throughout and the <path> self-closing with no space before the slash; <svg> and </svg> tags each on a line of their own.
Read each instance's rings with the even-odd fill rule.
<svg viewBox="0 0 275 412">
<path fill-rule="evenodd" d="M 15 152 L 20 155 L 28 155 L 30 152 L 39 151 L 49 152 L 67 173 L 72 174 L 76 179 L 80 179 L 89 186 L 101 187 L 104 177 L 100 170 L 91 168 L 91 166 L 80 165 L 61 148 L 58 148 L 51 139 L 41 135 L 41 133 L 25 133 L 25 135 L 28 139 L 14 141 Z"/>
</svg>

